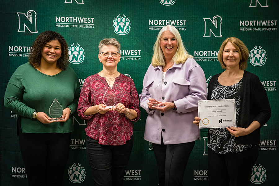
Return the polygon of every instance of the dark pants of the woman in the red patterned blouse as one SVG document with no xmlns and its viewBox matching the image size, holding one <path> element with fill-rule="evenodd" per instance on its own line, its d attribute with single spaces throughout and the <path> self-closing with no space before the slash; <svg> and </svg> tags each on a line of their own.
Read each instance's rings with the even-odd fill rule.
<svg viewBox="0 0 279 186">
<path fill-rule="evenodd" d="M 121 186 L 128 164 L 134 137 L 123 145 L 102 145 L 86 136 L 86 151 L 95 186 Z"/>
</svg>

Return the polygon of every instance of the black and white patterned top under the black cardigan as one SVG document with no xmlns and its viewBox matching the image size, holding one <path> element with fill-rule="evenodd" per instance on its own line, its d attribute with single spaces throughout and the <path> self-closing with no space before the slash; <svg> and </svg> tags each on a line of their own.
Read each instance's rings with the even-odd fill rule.
<svg viewBox="0 0 279 186">
<path fill-rule="evenodd" d="M 242 79 L 234 85 L 223 86 L 217 80 L 211 96 L 211 100 L 235 99 L 236 122 L 238 122 L 240 109 L 241 83 Z M 226 128 L 210 128 L 209 136 L 210 137 L 207 146 L 215 152 L 217 151 L 219 154 L 239 153 L 252 147 L 252 145 L 242 145 L 235 143 L 235 137 L 230 135 Z M 227 140 L 227 143 L 221 147 L 224 140 Z"/>
</svg>

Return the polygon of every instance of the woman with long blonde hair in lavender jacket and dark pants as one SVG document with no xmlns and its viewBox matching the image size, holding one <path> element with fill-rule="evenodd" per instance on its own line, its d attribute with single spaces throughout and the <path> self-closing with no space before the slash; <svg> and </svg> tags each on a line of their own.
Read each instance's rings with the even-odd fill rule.
<svg viewBox="0 0 279 186">
<path fill-rule="evenodd" d="M 164 26 L 157 36 L 139 98 L 148 113 L 144 139 L 152 143 L 159 183 L 181 186 L 200 138 L 199 127 L 189 120 L 197 114 L 197 100 L 206 99 L 206 79 L 174 26 Z"/>
</svg>

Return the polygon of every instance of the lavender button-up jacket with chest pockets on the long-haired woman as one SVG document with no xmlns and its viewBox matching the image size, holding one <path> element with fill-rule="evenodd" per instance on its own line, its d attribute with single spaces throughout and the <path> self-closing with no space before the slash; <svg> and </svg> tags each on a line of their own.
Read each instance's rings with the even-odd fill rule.
<svg viewBox="0 0 279 186">
<path fill-rule="evenodd" d="M 183 64 L 174 64 L 166 72 L 162 88 L 162 66 L 151 64 L 144 76 L 142 93 L 139 95 L 140 106 L 146 110 L 144 139 L 161 144 L 180 144 L 200 138 L 200 129 L 193 124 L 198 116 L 197 100 L 206 100 L 206 79 L 200 65 L 193 58 Z M 176 110 L 169 109 L 162 113 L 150 111 L 148 98 L 175 102 Z M 162 101 L 161 100 L 161 101 Z"/>
</svg>

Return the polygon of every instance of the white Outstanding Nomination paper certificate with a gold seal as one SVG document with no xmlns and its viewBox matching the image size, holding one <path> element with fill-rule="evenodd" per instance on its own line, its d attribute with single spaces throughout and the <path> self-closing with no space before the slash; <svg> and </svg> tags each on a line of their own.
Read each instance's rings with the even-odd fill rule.
<svg viewBox="0 0 279 186">
<path fill-rule="evenodd" d="M 200 100 L 198 113 L 200 129 L 236 126 L 235 99 Z"/>
</svg>

